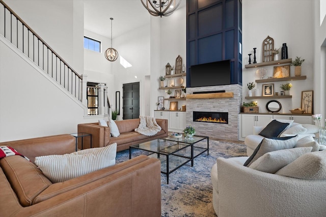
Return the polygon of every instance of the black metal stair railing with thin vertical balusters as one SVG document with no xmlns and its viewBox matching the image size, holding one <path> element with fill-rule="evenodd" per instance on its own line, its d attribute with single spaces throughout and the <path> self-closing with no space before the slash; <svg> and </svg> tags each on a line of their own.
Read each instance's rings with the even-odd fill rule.
<svg viewBox="0 0 326 217">
<path fill-rule="evenodd" d="M 34 61 L 45 73 L 81 101 L 78 75 L 34 30 L 0 0 L 0 34 Z"/>
</svg>

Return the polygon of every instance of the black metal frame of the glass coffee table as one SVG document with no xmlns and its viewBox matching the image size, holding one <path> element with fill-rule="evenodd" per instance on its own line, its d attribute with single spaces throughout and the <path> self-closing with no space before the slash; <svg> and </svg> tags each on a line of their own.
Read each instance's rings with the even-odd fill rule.
<svg viewBox="0 0 326 217">
<path fill-rule="evenodd" d="M 170 152 L 170 153 L 165 153 L 164 151 L 162 150 L 159 150 L 158 148 L 158 151 L 153 151 L 153 150 L 148 150 L 148 149 L 145 149 L 145 148 L 140 148 L 140 147 L 136 147 L 136 145 L 131 145 L 129 146 L 129 159 L 131 159 L 131 149 L 134 148 L 134 149 L 139 149 L 139 150 L 144 150 L 144 151 L 148 151 L 148 152 L 151 152 L 151 154 L 153 153 L 156 153 L 157 154 L 157 158 L 160 158 L 160 154 L 163 154 L 164 156 L 166 156 L 167 158 L 167 172 L 164 172 L 164 171 L 161 171 L 161 173 L 163 174 L 166 174 L 167 175 L 167 184 L 169 184 L 169 174 L 176 171 L 177 169 L 179 169 L 180 167 L 182 167 L 183 165 L 185 165 L 186 163 L 190 162 L 191 161 L 191 166 L 193 167 L 194 166 L 194 159 L 198 156 L 200 156 L 200 154 L 204 153 L 205 151 L 207 151 L 207 155 L 209 155 L 209 137 L 208 136 L 197 136 L 197 137 L 202 137 L 202 139 L 200 139 L 199 141 L 195 142 L 195 143 L 191 143 L 191 142 L 184 142 L 184 141 L 175 141 L 175 140 L 171 140 L 171 139 L 168 139 L 169 137 L 164 137 L 164 138 L 161 138 L 161 140 L 164 140 L 164 141 L 172 141 L 172 142 L 176 142 L 176 144 L 173 144 L 169 147 L 172 147 L 174 145 L 179 145 L 179 144 L 182 144 L 182 145 L 185 145 L 184 147 L 180 148 L 180 149 L 177 149 L 173 152 Z M 194 144 L 200 142 L 200 141 L 203 141 L 204 139 L 207 139 L 207 148 L 203 148 L 203 147 L 197 147 L 197 146 L 194 146 Z M 158 140 L 158 139 L 157 139 Z M 191 141 L 191 140 L 189 140 Z M 139 144 L 138 144 L 139 145 Z M 191 147 L 191 157 L 187 157 L 187 156 L 182 156 L 180 154 L 175 154 L 176 152 L 179 152 L 180 150 L 184 149 L 184 148 L 187 148 L 187 147 Z M 196 156 L 194 156 L 194 147 L 195 148 L 200 148 L 200 149 L 203 149 L 200 153 L 198 153 Z M 150 154 L 148 154 L 150 155 Z M 173 170 L 169 170 L 169 156 L 177 156 L 177 157 L 181 157 L 181 158 L 186 158 L 186 159 L 189 159 L 187 160 L 186 162 L 184 162 L 183 164 L 179 165 L 178 167 L 174 168 Z"/>
</svg>

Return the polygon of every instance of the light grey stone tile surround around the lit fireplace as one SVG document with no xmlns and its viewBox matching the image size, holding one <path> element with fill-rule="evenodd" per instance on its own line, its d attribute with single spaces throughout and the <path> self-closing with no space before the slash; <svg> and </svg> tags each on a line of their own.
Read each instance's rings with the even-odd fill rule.
<svg viewBox="0 0 326 217">
<path fill-rule="evenodd" d="M 233 92 L 231 98 L 190 98 L 193 92 L 225 90 Z M 188 97 L 189 96 L 189 97 Z M 194 96 L 194 95 L 193 95 Z M 238 140 L 239 112 L 242 105 L 242 86 L 239 84 L 187 87 L 186 126 L 193 126 L 196 134 L 216 139 Z M 193 112 L 228 112 L 228 124 L 193 121 Z"/>
</svg>

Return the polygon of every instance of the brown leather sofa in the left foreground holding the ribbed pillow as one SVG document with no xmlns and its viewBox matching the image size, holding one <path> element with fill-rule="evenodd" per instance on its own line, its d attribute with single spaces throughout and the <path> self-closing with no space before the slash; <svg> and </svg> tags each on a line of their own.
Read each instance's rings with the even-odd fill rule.
<svg viewBox="0 0 326 217">
<path fill-rule="evenodd" d="M 1 142 L 21 156 L 0 160 L 0 216 L 160 216 L 160 162 L 146 156 L 64 182 L 51 183 L 35 157 L 75 151 L 75 138 L 57 135 Z"/>
</svg>

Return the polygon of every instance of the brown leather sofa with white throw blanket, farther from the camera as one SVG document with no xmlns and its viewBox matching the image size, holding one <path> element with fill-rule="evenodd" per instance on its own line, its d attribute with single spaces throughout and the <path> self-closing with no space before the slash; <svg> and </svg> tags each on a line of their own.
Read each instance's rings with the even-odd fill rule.
<svg viewBox="0 0 326 217">
<path fill-rule="evenodd" d="M 127 120 L 115 120 L 119 129 L 120 136 L 110 137 L 110 127 L 102 127 L 96 123 L 79 123 L 78 133 L 92 134 L 92 147 L 104 147 L 112 143 L 117 143 L 117 151 L 128 149 L 130 145 L 147 142 L 150 140 L 162 138 L 168 136 L 168 120 L 156 119 L 157 124 L 162 128 L 154 136 L 145 136 L 134 132 L 134 129 L 138 128 L 140 124 L 140 118 L 127 119 Z M 80 142 L 78 142 L 78 145 Z M 90 138 L 85 137 L 83 142 L 83 149 L 90 147 Z M 82 146 L 78 146 L 79 149 Z"/>
</svg>

